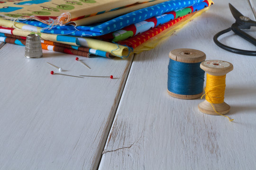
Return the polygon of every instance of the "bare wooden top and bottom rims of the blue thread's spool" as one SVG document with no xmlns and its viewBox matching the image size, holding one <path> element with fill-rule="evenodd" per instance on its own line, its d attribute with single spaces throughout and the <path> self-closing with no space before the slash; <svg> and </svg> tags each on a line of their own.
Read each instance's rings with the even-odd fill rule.
<svg viewBox="0 0 256 170">
<path fill-rule="evenodd" d="M 169 53 L 170 59 L 183 63 L 198 63 L 206 59 L 204 52 L 194 49 L 175 49 Z M 183 95 L 170 92 L 167 89 L 168 94 L 179 99 L 196 99 L 202 96 L 202 93 L 194 95 Z"/>
</svg>

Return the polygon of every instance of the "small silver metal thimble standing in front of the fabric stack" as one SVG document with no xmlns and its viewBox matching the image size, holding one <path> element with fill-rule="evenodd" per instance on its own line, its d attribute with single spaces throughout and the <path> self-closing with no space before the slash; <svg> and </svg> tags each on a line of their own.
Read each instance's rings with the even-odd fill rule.
<svg viewBox="0 0 256 170">
<path fill-rule="evenodd" d="M 40 58 L 43 56 L 40 36 L 38 34 L 28 34 L 25 46 L 25 57 Z"/>
</svg>

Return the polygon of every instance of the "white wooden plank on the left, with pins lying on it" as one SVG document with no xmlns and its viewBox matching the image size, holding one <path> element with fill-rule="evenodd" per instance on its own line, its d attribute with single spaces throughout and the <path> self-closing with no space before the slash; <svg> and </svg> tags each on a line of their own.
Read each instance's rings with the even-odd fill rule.
<svg viewBox="0 0 256 170">
<path fill-rule="evenodd" d="M 129 59 L 83 58 L 44 51 L 24 57 L 24 47 L 0 50 L 0 170 L 89 170 L 101 153 L 126 82 Z M 74 78 L 64 74 L 110 76 Z"/>
</svg>

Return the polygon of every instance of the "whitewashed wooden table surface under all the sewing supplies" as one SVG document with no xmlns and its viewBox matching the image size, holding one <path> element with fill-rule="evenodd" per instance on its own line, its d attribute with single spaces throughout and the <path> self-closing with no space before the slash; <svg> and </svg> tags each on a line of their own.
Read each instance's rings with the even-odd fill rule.
<svg viewBox="0 0 256 170">
<path fill-rule="evenodd" d="M 256 57 L 220 49 L 212 38 L 235 19 L 230 2 L 256 20 L 256 0 L 215 0 L 168 41 L 128 59 L 84 59 L 24 47 L 0 49 L 0 170 L 255 170 Z M 256 28 L 249 33 L 256 37 Z M 256 50 L 232 33 L 220 41 Z M 225 102 L 234 119 L 197 109 L 201 99 L 169 96 L 169 51 L 192 48 L 208 59 L 231 62 Z M 73 78 L 50 75 L 61 66 Z M 56 70 L 55 70 L 56 71 Z"/>
</svg>

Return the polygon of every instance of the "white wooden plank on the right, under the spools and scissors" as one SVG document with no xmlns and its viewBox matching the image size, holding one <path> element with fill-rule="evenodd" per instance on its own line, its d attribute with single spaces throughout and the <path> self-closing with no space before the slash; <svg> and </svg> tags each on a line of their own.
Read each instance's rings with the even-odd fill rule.
<svg viewBox="0 0 256 170">
<path fill-rule="evenodd" d="M 247 1 L 232 5 L 253 18 Z M 215 0 L 209 11 L 194 19 L 155 49 L 136 55 L 100 163 L 100 170 L 253 170 L 256 169 L 256 57 L 220 49 L 213 36 L 232 25 L 228 0 Z M 250 31 L 256 36 L 255 30 Z M 229 33 L 220 41 L 237 48 L 255 46 Z M 201 99 L 169 96 L 169 51 L 191 48 L 206 59 L 231 62 L 226 78 L 222 116 L 201 113 Z"/>
</svg>

